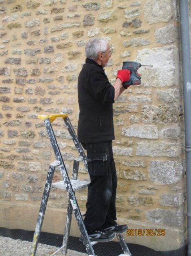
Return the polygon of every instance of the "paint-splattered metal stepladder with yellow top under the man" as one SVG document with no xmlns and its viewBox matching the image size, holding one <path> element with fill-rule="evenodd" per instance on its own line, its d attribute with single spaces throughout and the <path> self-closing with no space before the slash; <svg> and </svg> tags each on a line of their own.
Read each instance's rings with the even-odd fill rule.
<svg viewBox="0 0 191 256">
<path fill-rule="evenodd" d="M 72 177 L 71 179 L 68 176 L 68 172 L 66 170 L 66 166 L 64 164 L 64 161 L 62 159 L 62 155 L 60 152 L 60 148 L 58 146 L 56 136 L 54 134 L 53 128 L 51 123 L 57 118 L 61 117 L 63 118 L 66 127 L 68 128 L 68 132 L 70 133 L 70 136 L 72 137 L 72 140 L 74 142 L 74 145 L 76 146 L 76 149 L 78 151 L 79 157 L 74 159 L 74 165 L 73 165 L 73 171 L 72 171 Z M 68 114 L 52 114 L 52 115 L 40 115 L 38 118 L 44 120 L 44 124 L 46 126 L 46 130 L 48 132 L 48 136 L 50 138 L 50 142 L 52 145 L 52 148 L 54 150 L 54 154 L 56 157 L 56 160 L 52 162 L 49 166 L 48 174 L 47 174 L 47 179 L 46 179 L 46 184 L 44 187 L 44 193 L 42 196 L 42 202 L 40 205 L 40 210 L 38 214 L 38 219 L 36 223 L 36 229 L 34 232 L 34 237 L 32 241 L 32 248 L 30 251 L 30 256 L 35 256 L 36 255 L 36 250 L 38 246 L 38 241 L 40 238 L 40 232 L 42 229 L 42 223 L 44 220 L 44 214 L 46 210 L 46 205 L 48 202 L 48 196 L 50 193 L 50 188 L 51 185 L 54 188 L 61 188 L 67 190 L 68 193 L 68 208 L 67 208 L 67 214 L 66 214 L 66 223 L 65 223 L 65 229 L 64 229 L 64 237 L 63 237 L 63 244 L 62 247 L 60 247 L 56 252 L 51 254 L 50 256 L 56 255 L 57 252 L 62 252 L 63 255 L 67 254 L 67 247 L 68 247 L 68 240 L 69 240 L 69 235 L 70 235 L 70 226 L 71 226 L 71 221 L 72 221 L 72 212 L 74 212 L 74 216 L 76 218 L 76 221 L 78 223 L 84 245 L 86 247 L 87 254 L 89 256 L 96 256 L 93 245 L 96 244 L 97 242 L 91 242 L 90 238 L 88 236 L 88 233 L 86 231 L 86 227 L 84 225 L 84 221 L 82 218 L 82 214 L 80 212 L 78 202 L 76 200 L 75 196 L 75 191 L 80 190 L 82 188 L 85 188 L 88 186 L 90 182 L 87 181 L 79 181 L 77 180 L 78 178 L 78 167 L 79 167 L 79 162 L 82 161 L 86 170 L 88 171 L 88 162 L 87 162 L 87 157 L 86 154 L 84 153 L 84 150 L 78 141 L 78 138 L 76 136 L 76 132 L 74 131 L 74 128 L 72 127 L 72 124 L 70 122 L 70 119 L 68 118 Z M 62 181 L 61 182 L 56 182 L 52 184 L 53 176 L 54 176 L 54 170 L 56 166 L 59 166 L 60 172 L 62 175 Z M 129 251 L 129 248 L 127 247 L 127 244 L 121 234 L 117 234 L 117 239 L 119 241 L 119 244 L 123 250 L 123 254 L 120 254 L 119 256 L 126 255 L 126 256 L 131 256 L 131 252 Z"/>
</svg>

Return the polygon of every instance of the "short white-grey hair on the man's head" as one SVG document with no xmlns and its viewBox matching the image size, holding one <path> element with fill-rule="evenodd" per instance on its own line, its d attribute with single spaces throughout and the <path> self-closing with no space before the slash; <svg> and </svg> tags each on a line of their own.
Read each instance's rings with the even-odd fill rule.
<svg viewBox="0 0 191 256">
<path fill-rule="evenodd" d="M 92 60 L 96 60 L 99 52 L 105 52 L 107 50 L 108 42 L 104 38 L 92 38 L 86 44 L 85 52 L 86 57 Z"/>
</svg>

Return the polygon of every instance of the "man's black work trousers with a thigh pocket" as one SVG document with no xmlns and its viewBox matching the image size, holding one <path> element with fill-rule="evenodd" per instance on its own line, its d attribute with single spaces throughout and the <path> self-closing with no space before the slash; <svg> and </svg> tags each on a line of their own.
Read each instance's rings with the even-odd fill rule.
<svg viewBox="0 0 191 256">
<path fill-rule="evenodd" d="M 89 234 L 115 224 L 117 175 L 113 159 L 112 142 L 82 144 L 87 150 L 88 200 L 84 223 Z"/>
</svg>

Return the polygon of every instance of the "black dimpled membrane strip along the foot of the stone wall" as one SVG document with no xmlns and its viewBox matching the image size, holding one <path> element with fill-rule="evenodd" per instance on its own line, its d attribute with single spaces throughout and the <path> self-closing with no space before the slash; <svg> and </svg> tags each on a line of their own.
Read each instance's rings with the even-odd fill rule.
<svg viewBox="0 0 191 256">
<path fill-rule="evenodd" d="M 34 231 L 21 229 L 0 228 L 0 236 L 6 236 L 12 239 L 20 239 L 32 242 Z M 63 236 L 41 232 L 39 243 L 48 244 L 56 247 L 62 246 Z M 155 251 L 139 244 L 127 244 L 132 256 L 187 256 L 187 246 L 172 251 Z M 86 253 L 86 248 L 79 238 L 70 236 L 68 249 Z M 94 245 L 94 251 L 97 256 L 118 256 L 123 251 L 118 242 L 98 243 Z"/>
</svg>

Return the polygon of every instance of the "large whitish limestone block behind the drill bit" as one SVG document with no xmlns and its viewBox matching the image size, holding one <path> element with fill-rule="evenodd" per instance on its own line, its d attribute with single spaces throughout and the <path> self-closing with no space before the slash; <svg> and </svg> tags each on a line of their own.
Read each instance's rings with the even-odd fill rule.
<svg viewBox="0 0 191 256">
<path fill-rule="evenodd" d="M 176 46 L 164 46 L 137 51 L 137 61 L 153 67 L 139 68 L 141 85 L 163 87 L 179 84 L 179 53 Z M 164 65 L 168 63 L 168 65 Z"/>
</svg>

